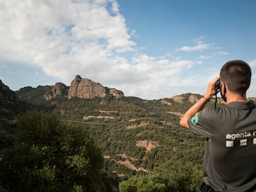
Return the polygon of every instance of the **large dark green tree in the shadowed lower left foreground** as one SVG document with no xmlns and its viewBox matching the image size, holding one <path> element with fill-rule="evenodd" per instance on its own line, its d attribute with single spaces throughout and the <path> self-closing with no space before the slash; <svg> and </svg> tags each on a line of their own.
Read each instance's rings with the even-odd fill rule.
<svg viewBox="0 0 256 192">
<path fill-rule="evenodd" d="M 15 138 L 0 161 L 9 191 L 107 191 L 101 151 L 78 126 L 33 111 L 19 118 Z"/>
</svg>

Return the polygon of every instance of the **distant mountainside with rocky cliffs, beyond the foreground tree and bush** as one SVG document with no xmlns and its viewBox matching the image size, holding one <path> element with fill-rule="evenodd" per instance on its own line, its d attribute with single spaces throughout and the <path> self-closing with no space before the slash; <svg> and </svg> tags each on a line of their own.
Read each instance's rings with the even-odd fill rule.
<svg viewBox="0 0 256 192">
<path fill-rule="evenodd" d="M 126 97 L 122 91 L 116 91 L 121 98 L 114 96 L 110 88 L 79 75 L 70 87 L 63 83 L 36 88 L 28 86 L 15 93 L 1 82 L 1 112 L 17 112 L 22 109 L 20 102 L 27 102 L 37 109 L 58 114 L 63 122 L 79 123 L 101 148 L 104 171 L 116 186 L 133 175 L 158 170 L 162 173 L 169 167 L 166 162 L 176 165 L 177 160 L 182 166 L 187 162 L 189 166 L 202 165 L 205 139 L 179 126 L 182 114 L 202 95 L 186 93 L 145 100 Z M 221 101 L 218 98 L 217 107 L 223 106 Z M 215 106 L 215 98 L 207 103 L 208 106 Z M 1 144 L 6 147 L 7 141 L 12 142 L 7 134 L 5 140 L 2 138 L 0 153 Z M 198 177 L 202 175 L 199 170 L 197 174 Z"/>
</svg>

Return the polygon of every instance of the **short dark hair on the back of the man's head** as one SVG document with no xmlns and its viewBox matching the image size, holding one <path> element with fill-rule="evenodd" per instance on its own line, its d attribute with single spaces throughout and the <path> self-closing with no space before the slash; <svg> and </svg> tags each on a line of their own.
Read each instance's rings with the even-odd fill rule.
<svg viewBox="0 0 256 192">
<path fill-rule="evenodd" d="M 250 66 L 241 60 L 229 61 L 223 65 L 220 79 L 228 87 L 229 91 L 236 94 L 244 94 L 250 86 L 252 71 Z"/>
</svg>

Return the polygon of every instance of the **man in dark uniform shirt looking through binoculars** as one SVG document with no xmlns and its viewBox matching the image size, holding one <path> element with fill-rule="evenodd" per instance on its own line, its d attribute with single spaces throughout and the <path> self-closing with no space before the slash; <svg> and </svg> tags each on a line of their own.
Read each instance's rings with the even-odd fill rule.
<svg viewBox="0 0 256 192">
<path fill-rule="evenodd" d="M 227 62 L 220 77 L 208 83 L 207 92 L 181 118 L 182 127 L 207 138 L 202 191 L 256 191 L 256 109 L 246 98 L 250 78 L 247 63 Z M 216 91 L 226 105 L 203 109 Z"/>
</svg>

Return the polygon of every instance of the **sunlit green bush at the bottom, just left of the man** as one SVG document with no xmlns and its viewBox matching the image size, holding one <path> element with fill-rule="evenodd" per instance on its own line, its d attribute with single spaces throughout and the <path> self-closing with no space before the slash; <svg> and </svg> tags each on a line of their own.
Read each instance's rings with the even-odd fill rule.
<svg viewBox="0 0 256 192">
<path fill-rule="evenodd" d="M 172 158 L 153 173 L 130 177 L 127 181 L 119 183 L 119 190 L 120 192 L 198 191 L 202 179 L 200 166 L 193 165 L 192 162 L 182 163 Z"/>
</svg>

